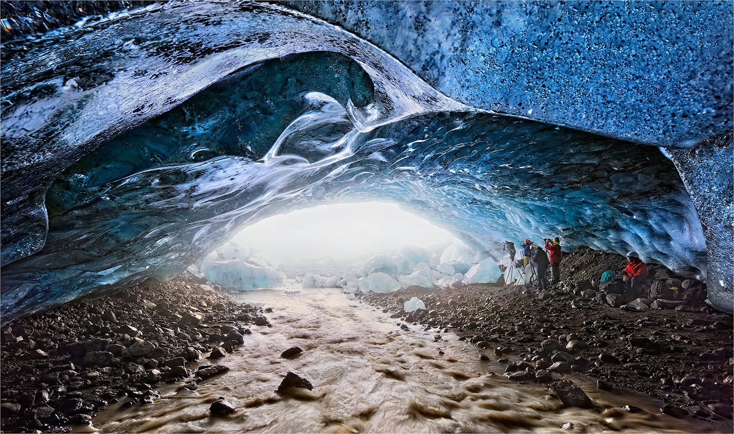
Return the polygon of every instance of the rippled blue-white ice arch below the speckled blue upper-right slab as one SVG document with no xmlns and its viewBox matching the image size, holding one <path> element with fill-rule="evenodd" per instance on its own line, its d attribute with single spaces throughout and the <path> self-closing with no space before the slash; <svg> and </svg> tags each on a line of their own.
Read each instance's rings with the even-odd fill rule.
<svg viewBox="0 0 734 434">
<path fill-rule="evenodd" d="M 611 137 L 655 142 L 624 126 L 491 112 L 271 4 L 152 4 L 11 40 L 2 56 L 4 321 L 171 277 L 265 217 L 368 200 L 484 256 L 545 234 L 636 250 L 708 277 L 730 310 L 730 134 L 669 148 L 671 160 Z M 728 117 L 716 110 L 690 137 L 730 129 L 722 92 Z"/>
</svg>

